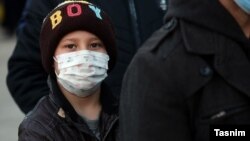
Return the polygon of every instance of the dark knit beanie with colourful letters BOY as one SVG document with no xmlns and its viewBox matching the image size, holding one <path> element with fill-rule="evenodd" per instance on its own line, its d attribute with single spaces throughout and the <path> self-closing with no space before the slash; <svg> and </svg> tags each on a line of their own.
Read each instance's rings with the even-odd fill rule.
<svg viewBox="0 0 250 141">
<path fill-rule="evenodd" d="M 109 70 L 116 61 L 114 28 L 109 16 L 87 1 L 65 1 L 53 9 L 44 19 L 40 33 L 42 64 L 48 73 L 54 73 L 53 55 L 60 40 L 66 34 L 84 30 L 102 40 L 110 57 Z"/>
</svg>

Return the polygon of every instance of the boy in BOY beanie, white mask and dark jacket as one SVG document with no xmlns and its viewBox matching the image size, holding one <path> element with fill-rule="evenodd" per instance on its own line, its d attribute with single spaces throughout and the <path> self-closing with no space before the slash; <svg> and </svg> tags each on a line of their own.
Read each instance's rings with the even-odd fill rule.
<svg viewBox="0 0 250 141">
<path fill-rule="evenodd" d="M 50 92 L 26 115 L 18 140 L 116 141 L 118 101 L 103 83 L 117 53 L 109 16 L 65 1 L 44 19 L 39 41 Z"/>
</svg>

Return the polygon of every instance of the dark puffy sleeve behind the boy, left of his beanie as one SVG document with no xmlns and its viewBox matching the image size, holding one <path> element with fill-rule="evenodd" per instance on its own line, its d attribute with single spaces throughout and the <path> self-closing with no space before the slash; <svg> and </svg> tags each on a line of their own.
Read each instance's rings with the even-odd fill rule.
<svg viewBox="0 0 250 141">
<path fill-rule="evenodd" d="M 49 0 L 27 1 L 17 29 L 16 46 L 8 61 L 7 86 L 24 113 L 49 91 L 41 63 L 39 33 L 43 18 L 52 7 Z"/>
</svg>

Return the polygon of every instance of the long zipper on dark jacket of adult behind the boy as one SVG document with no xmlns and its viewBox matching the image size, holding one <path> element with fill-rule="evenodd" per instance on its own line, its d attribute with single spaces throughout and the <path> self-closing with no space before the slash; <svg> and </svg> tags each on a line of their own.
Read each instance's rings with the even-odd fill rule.
<svg viewBox="0 0 250 141">
<path fill-rule="evenodd" d="M 139 48 L 141 44 L 141 36 L 139 32 L 138 18 L 137 18 L 137 13 L 135 9 L 135 1 L 128 0 L 128 4 L 129 4 L 129 13 L 131 17 L 131 24 L 132 24 L 132 28 L 134 31 L 135 45 L 137 48 Z"/>
</svg>

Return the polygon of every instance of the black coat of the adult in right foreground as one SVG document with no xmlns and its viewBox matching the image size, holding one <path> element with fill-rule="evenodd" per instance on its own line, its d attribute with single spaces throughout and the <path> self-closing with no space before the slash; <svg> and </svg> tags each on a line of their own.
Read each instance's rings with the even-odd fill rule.
<svg viewBox="0 0 250 141">
<path fill-rule="evenodd" d="M 249 125 L 249 50 L 218 0 L 170 0 L 125 73 L 121 141 L 209 141 L 210 127 Z"/>
</svg>

